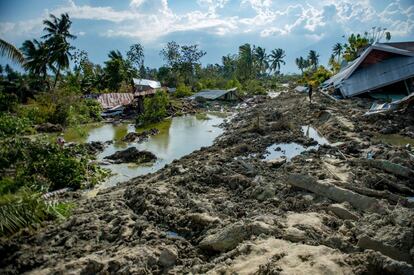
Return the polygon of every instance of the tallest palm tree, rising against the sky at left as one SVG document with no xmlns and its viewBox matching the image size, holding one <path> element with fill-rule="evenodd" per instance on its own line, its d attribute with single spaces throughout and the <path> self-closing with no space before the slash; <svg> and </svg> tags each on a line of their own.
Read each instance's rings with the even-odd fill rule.
<svg viewBox="0 0 414 275">
<path fill-rule="evenodd" d="M 51 14 L 50 20 L 44 20 L 43 24 L 45 25 L 43 30 L 46 34 L 42 38 L 47 39 L 46 44 L 50 48 L 50 64 L 56 65 L 55 83 L 53 85 L 56 86 L 61 69 L 69 67 L 70 50 L 73 47 L 70 46 L 67 40 L 75 39 L 76 36 L 69 32 L 72 21 L 67 13 L 61 14 L 60 18 Z"/>
</svg>

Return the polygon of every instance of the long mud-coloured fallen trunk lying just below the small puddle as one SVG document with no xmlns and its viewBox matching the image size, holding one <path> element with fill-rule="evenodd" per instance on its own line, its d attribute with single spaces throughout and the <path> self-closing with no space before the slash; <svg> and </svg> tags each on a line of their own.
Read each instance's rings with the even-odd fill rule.
<svg viewBox="0 0 414 275">
<path fill-rule="evenodd" d="M 377 199 L 332 184 L 316 181 L 308 175 L 291 174 L 288 176 L 287 182 L 292 186 L 305 189 L 336 202 L 349 202 L 353 207 L 362 211 L 374 211 L 378 213 L 384 211 Z"/>
</svg>

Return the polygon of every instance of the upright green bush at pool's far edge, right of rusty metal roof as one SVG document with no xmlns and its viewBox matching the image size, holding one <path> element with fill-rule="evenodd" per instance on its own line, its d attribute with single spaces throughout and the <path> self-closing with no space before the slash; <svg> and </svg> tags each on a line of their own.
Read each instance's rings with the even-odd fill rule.
<svg viewBox="0 0 414 275">
<path fill-rule="evenodd" d="M 167 116 L 168 95 L 157 91 L 153 97 L 144 99 L 144 113 L 137 117 L 137 124 L 146 125 L 161 121 Z"/>
</svg>

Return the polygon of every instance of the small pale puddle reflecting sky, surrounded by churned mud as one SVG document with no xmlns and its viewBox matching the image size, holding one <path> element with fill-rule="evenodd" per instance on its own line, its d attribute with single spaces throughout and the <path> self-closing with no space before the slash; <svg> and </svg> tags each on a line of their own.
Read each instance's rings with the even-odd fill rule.
<svg viewBox="0 0 414 275">
<path fill-rule="evenodd" d="M 318 131 L 312 126 L 310 125 L 302 126 L 301 130 L 304 136 L 308 138 L 312 138 L 318 144 L 305 147 L 296 142 L 275 143 L 267 148 L 265 160 L 286 158 L 288 161 L 290 161 L 292 158 L 302 154 L 305 151 L 309 151 L 312 149 L 317 150 L 320 145 L 329 144 L 329 141 L 326 138 L 324 138 L 321 134 L 319 134 Z"/>
</svg>

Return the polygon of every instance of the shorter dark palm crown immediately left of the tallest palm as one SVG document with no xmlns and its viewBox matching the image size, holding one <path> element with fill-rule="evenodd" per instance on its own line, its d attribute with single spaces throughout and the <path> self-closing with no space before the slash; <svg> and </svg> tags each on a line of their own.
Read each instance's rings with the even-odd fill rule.
<svg viewBox="0 0 414 275">
<path fill-rule="evenodd" d="M 34 39 L 23 42 L 21 51 L 26 59 L 24 68 L 30 73 L 38 76 L 47 77 L 47 67 L 49 65 L 49 50 L 45 43 Z"/>
</svg>

